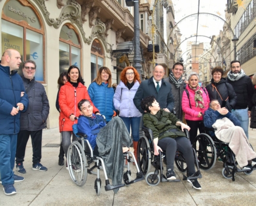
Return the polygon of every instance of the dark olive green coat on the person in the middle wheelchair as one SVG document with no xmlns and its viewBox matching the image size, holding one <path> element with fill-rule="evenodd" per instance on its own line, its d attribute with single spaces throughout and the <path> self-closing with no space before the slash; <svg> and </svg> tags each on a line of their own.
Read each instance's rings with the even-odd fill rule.
<svg viewBox="0 0 256 206">
<path fill-rule="evenodd" d="M 186 134 L 181 131 L 176 126 L 176 122 L 180 121 L 173 113 L 165 112 L 160 109 L 156 115 L 145 113 L 143 115 L 143 124 L 145 127 L 153 131 L 154 139 L 158 138 L 176 138 L 177 136 L 186 136 Z M 170 132 L 168 130 L 177 129 L 177 132 Z"/>
</svg>

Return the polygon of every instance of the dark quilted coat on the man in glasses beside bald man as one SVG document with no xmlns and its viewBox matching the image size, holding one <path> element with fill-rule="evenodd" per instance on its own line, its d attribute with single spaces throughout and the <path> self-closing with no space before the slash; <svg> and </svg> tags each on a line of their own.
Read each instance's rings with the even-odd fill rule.
<svg viewBox="0 0 256 206">
<path fill-rule="evenodd" d="M 25 89 L 35 80 L 26 79 L 22 76 Z M 37 82 L 27 93 L 29 105 L 26 112 L 21 114 L 20 130 L 36 131 L 45 128 L 44 123 L 47 121 L 50 106 L 46 95 L 46 90 L 41 83 Z"/>
</svg>

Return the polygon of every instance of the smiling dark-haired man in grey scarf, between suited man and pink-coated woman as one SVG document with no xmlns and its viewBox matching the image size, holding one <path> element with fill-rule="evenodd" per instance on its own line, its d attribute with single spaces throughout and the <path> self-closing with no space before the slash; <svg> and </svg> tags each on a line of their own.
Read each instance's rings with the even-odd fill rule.
<svg viewBox="0 0 256 206">
<path fill-rule="evenodd" d="M 172 71 L 169 74 L 169 77 L 165 78 L 164 81 L 168 82 L 172 88 L 172 95 L 174 98 L 174 111 L 178 119 L 182 121 L 182 95 L 184 91 L 185 82 L 182 79 L 182 74 L 184 71 L 183 63 L 175 63 L 172 67 Z"/>
</svg>

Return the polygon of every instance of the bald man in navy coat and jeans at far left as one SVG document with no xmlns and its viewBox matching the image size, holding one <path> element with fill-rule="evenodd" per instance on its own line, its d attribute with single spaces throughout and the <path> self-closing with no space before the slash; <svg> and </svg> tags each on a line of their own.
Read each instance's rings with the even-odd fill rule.
<svg viewBox="0 0 256 206">
<path fill-rule="evenodd" d="M 17 71 L 21 55 L 17 50 L 7 49 L 0 62 L 0 173 L 6 195 L 16 194 L 14 182 L 23 177 L 13 174 L 17 134 L 20 131 L 20 114 L 28 107 L 28 97 L 23 92 L 23 81 Z"/>
</svg>

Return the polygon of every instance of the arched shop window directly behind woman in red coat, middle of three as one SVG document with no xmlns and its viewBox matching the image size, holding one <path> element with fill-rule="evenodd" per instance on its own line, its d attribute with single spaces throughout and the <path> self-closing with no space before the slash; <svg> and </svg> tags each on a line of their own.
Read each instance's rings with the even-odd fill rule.
<svg viewBox="0 0 256 206">
<path fill-rule="evenodd" d="M 81 71 L 81 45 L 74 27 L 65 24 L 59 35 L 59 74 L 67 72 L 70 65 Z"/>
</svg>

